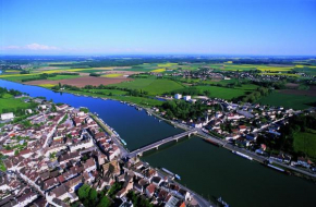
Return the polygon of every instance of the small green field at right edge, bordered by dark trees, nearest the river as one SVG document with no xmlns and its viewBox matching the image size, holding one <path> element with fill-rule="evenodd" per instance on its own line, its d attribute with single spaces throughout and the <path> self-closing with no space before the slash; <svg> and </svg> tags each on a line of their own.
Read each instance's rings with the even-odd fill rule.
<svg viewBox="0 0 316 207">
<path fill-rule="evenodd" d="M 299 132 L 294 135 L 295 151 L 303 151 L 308 157 L 316 158 L 316 131 Z"/>
</svg>

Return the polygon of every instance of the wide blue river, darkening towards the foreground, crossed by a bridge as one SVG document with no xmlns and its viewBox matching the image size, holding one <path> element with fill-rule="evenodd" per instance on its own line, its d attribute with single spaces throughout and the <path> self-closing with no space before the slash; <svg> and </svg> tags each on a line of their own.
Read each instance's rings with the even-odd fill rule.
<svg viewBox="0 0 316 207">
<path fill-rule="evenodd" d="M 3 80 L 0 80 L 0 86 L 19 89 L 33 97 L 45 96 L 54 102 L 87 107 L 114 127 L 130 150 L 182 132 L 119 101 L 53 93 Z M 178 173 L 181 183 L 204 197 L 222 196 L 233 207 L 316 206 L 315 184 L 243 159 L 199 137 L 168 144 L 157 151 L 145 154 L 143 159 L 154 167 Z"/>
</svg>

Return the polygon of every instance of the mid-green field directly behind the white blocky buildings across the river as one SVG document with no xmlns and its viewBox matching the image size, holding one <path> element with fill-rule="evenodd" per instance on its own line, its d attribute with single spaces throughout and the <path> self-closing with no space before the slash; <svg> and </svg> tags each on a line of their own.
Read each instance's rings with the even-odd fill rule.
<svg viewBox="0 0 316 207">
<path fill-rule="evenodd" d="M 226 88 L 219 86 L 196 86 L 196 88 L 200 92 L 208 90 L 210 93 L 209 97 L 223 98 L 227 100 L 231 100 L 232 98 L 236 98 L 245 94 L 244 89 Z"/>
</svg>

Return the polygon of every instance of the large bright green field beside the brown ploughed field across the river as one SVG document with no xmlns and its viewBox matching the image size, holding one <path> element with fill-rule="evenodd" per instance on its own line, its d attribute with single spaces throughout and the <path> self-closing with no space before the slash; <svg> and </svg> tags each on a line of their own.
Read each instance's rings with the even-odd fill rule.
<svg viewBox="0 0 316 207">
<path fill-rule="evenodd" d="M 142 89 L 148 95 L 161 95 L 163 93 L 184 88 L 181 84 L 170 80 L 137 78 L 132 82 L 114 84 L 119 88 Z"/>
</svg>

